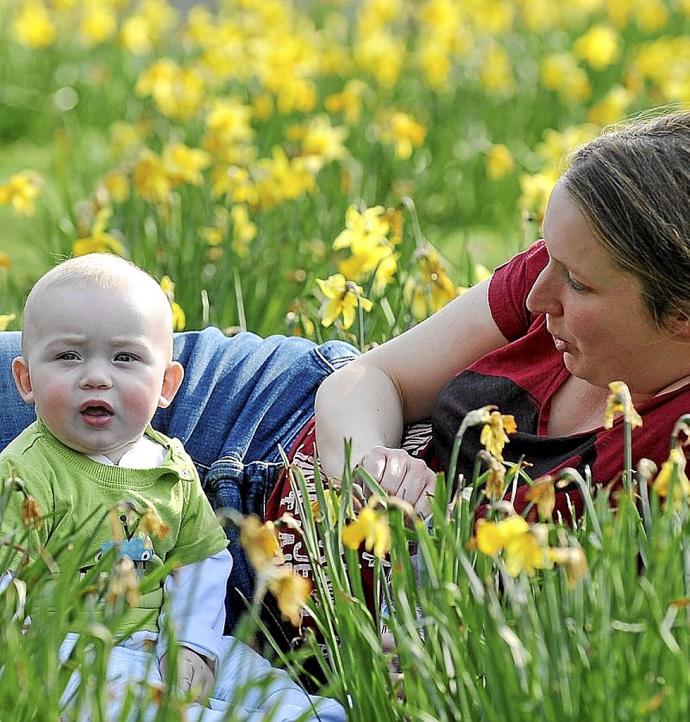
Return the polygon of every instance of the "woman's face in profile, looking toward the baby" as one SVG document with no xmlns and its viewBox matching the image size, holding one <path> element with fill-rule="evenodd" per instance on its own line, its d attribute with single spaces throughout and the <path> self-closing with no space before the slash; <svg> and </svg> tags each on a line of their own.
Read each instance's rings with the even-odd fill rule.
<svg viewBox="0 0 690 722">
<path fill-rule="evenodd" d="M 638 399 L 690 373 L 688 324 L 659 329 L 638 279 L 617 268 L 561 182 L 543 224 L 549 263 L 528 298 L 544 313 L 556 349 L 573 376 L 605 387 L 625 381 Z"/>
</svg>

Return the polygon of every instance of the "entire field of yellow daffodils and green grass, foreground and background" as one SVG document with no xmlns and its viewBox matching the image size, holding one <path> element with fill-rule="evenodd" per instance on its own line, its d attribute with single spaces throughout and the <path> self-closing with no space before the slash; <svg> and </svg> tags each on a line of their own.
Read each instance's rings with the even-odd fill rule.
<svg viewBox="0 0 690 722">
<path fill-rule="evenodd" d="M 688 106 L 690 0 L 0 0 L 0 330 L 21 328 L 54 262 L 107 251 L 160 281 L 178 329 L 364 349 L 538 238 L 569 149 Z M 687 719 L 687 419 L 660 470 L 633 478 L 621 459 L 615 504 L 568 471 L 534 483 L 528 523 L 496 501 L 525 474 L 501 456 L 514 420 L 472 413 L 477 476 L 455 495 L 441 479 L 431 524 L 361 471 L 338 494 L 317 475 L 301 533 L 318 635 L 283 661 L 310 653 L 313 684 L 356 722 Z M 607 414 L 634 438 L 627 389 L 612 388 Z M 586 513 L 563 524 L 551 500 L 566 483 Z M 479 503 L 490 511 L 475 526 Z M 40 523 L 25 507 L 25 529 L 3 540 L 15 549 Z M 231 521 L 261 552 L 261 594 L 299 621 L 309 590 L 275 529 Z M 58 622 L 46 621 L 32 590 L 55 560 L 42 561 L 0 593 L 0 719 L 102 711 L 111 630 L 138 594 L 105 559 L 76 588 L 51 588 Z M 83 642 L 60 664 L 85 609 Z M 260 624 L 249 614 L 241 633 Z M 61 718 L 74 669 L 83 684 Z M 184 719 L 185 700 L 144 689 L 123 720 L 142 695 L 156 719 Z"/>
</svg>

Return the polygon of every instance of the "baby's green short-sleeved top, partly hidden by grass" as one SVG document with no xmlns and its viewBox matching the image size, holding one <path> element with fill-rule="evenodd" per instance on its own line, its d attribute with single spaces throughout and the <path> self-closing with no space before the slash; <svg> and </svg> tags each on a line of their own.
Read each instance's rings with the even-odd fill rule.
<svg viewBox="0 0 690 722">
<path fill-rule="evenodd" d="M 29 549 L 45 548 L 54 554 L 69 541 L 74 549 L 83 550 L 80 566 L 84 570 L 118 542 L 120 555 L 132 558 L 138 571 L 171 558 L 180 565 L 192 564 L 225 549 L 227 538 L 182 444 L 151 427 L 146 436 L 168 450 L 161 466 L 128 469 L 92 461 L 58 441 L 40 419 L 14 439 L 0 453 L 0 481 L 13 475 L 19 478 L 41 515 L 49 517 L 32 529 L 26 542 Z M 23 528 L 24 499 L 24 492 L 15 485 L 0 519 L 3 537 Z M 105 513 L 119 502 L 128 502 L 133 511 Z M 162 538 L 143 530 L 132 533 L 136 519 L 147 509 L 155 510 L 169 527 Z M 19 559 L 17 553 L 15 565 Z M 59 564 L 59 554 L 57 559 Z M 142 594 L 116 631 L 157 631 L 162 603 L 162 586 Z"/>
</svg>

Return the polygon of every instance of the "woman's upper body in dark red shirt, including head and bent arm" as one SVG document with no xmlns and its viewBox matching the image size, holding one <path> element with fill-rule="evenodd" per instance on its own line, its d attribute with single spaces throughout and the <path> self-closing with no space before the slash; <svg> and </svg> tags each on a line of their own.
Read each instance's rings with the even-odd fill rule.
<svg viewBox="0 0 690 722">
<path fill-rule="evenodd" d="M 431 418 L 434 469 L 447 470 L 464 415 L 496 404 L 518 427 L 507 460 L 524 455 L 533 477 L 590 466 L 606 483 L 623 467 L 621 420 L 602 426 L 607 386 L 619 380 L 644 422 L 635 458 L 666 458 L 673 424 L 690 410 L 690 113 L 575 152 L 543 235 L 492 279 L 324 381 L 316 438 L 329 475 L 341 473 L 351 437 L 353 459 L 424 513 L 435 474 L 396 448 L 404 425 Z M 467 436 L 458 470 L 471 477 L 479 443 Z M 524 505 L 518 491 L 517 510 Z"/>
</svg>

